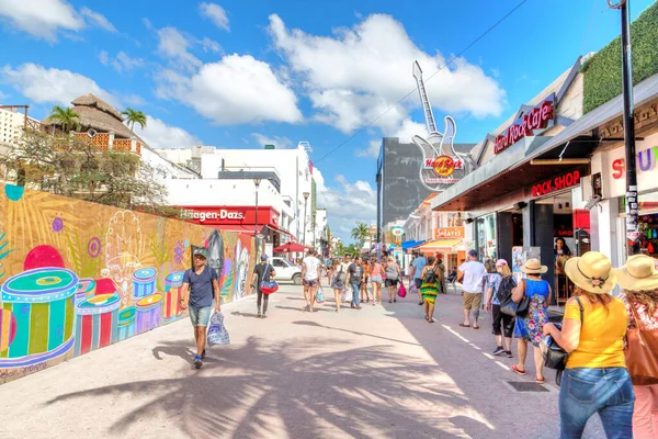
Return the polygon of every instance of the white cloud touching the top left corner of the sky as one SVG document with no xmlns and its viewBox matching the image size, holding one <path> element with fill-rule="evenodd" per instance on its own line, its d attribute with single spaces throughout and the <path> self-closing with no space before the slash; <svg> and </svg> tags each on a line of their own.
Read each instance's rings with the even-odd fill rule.
<svg viewBox="0 0 658 439">
<path fill-rule="evenodd" d="M 1 0 L 0 16 L 15 27 L 50 42 L 60 30 L 77 32 L 84 21 L 65 0 Z"/>
</svg>

